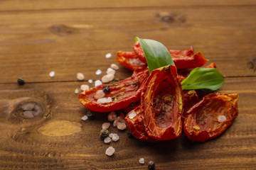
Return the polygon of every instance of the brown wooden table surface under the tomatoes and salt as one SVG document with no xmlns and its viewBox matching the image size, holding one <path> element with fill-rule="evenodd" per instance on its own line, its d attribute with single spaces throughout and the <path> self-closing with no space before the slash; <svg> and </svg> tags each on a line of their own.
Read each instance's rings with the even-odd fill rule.
<svg viewBox="0 0 256 170">
<path fill-rule="evenodd" d="M 107 113 L 81 120 L 87 109 L 74 91 L 95 71 L 132 51 L 134 37 L 174 50 L 193 45 L 225 75 L 220 92 L 239 94 L 239 115 L 208 142 L 148 144 L 120 136 L 100 140 Z M 0 1 L 0 169 L 256 169 L 256 1 Z M 106 59 L 107 53 L 112 58 Z M 132 72 L 118 64 L 115 79 Z M 49 72 L 55 71 L 50 78 Z M 78 81 L 76 74 L 85 74 Z M 26 84 L 18 86 L 22 77 Z M 41 108 L 28 119 L 26 103 Z M 105 150 L 116 152 L 107 157 Z M 146 164 L 139 164 L 144 157 Z"/>
</svg>

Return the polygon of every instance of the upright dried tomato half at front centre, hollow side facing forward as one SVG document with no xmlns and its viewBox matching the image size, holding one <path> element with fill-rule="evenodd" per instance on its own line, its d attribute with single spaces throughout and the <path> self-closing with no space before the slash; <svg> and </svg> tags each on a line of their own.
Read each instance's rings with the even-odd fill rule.
<svg viewBox="0 0 256 170">
<path fill-rule="evenodd" d="M 171 140 L 181 135 L 183 102 L 175 66 L 154 69 L 142 91 L 144 128 L 155 140 Z"/>
</svg>

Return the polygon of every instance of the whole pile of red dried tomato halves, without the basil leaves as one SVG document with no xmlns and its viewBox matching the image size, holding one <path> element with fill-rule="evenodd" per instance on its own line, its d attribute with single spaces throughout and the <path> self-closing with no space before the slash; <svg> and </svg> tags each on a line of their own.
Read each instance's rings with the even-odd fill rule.
<svg viewBox="0 0 256 170">
<path fill-rule="evenodd" d="M 79 95 L 82 105 L 97 112 L 129 111 L 125 118 L 129 130 L 145 142 L 172 140 L 182 130 L 190 140 L 203 142 L 233 124 L 238 116 L 238 94 L 209 94 L 181 88 L 181 81 L 191 69 L 208 62 L 201 52 L 194 54 L 193 47 L 169 50 L 175 66 L 154 69 L 149 74 L 139 41 L 133 49 L 134 52 L 117 52 L 117 61 L 134 70 L 132 77 L 82 92 Z M 214 63 L 207 67 L 217 68 Z M 103 91 L 111 102 L 97 103 L 97 91 Z"/>
</svg>

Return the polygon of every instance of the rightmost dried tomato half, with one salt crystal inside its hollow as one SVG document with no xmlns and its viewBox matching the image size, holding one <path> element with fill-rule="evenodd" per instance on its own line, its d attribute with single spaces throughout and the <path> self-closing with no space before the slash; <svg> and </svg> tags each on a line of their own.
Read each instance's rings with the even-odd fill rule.
<svg viewBox="0 0 256 170">
<path fill-rule="evenodd" d="M 183 131 L 204 142 L 222 134 L 238 117 L 238 94 L 208 94 L 186 112 Z"/>
</svg>

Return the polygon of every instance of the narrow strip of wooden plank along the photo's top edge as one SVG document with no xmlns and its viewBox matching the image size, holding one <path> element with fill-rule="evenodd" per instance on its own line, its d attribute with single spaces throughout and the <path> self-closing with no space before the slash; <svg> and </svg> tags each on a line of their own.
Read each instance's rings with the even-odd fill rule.
<svg viewBox="0 0 256 170">
<path fill-rule="evenodd" d="M 49 10 L 49 9 L 76 9 L 76 8 L 145 8 L 145 7 L 164 7 L 164 6 L 251 6 L 255 5 L 255 1 L 245 0 L 225 0 L 225 1 L 127 1 L 118 0 L 95 0 L 95 1 L 81 1 L 81 0 L 53 0 L 53 1 L 31 1 L 24 0 L 21 2 L 18 0 L 0 1 L 0 11 L 28 11 L 28 10 Z"/>
</svg>

